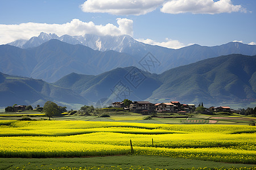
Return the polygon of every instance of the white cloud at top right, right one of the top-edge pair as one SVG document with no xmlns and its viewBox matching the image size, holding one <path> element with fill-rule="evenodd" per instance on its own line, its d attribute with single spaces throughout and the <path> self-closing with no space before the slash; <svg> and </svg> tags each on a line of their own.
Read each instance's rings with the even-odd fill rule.
<svg viewBox="0 0 256 170">
<path fill-rule="evenodd" d="M 164 13 L 180 14 L 220 14 L 230 12 L 246 12 L 241 5 L 233 5 L 231 0 L 171 0 L 160 9 Z"/>
</svg>

